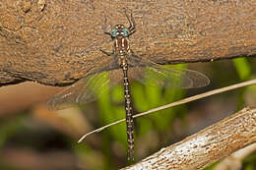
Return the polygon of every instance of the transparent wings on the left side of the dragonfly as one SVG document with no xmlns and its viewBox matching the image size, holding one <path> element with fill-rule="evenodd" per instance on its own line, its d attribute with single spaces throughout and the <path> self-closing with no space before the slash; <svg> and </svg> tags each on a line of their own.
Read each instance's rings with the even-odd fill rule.
<svg viewBox="0 0 256 170">
<path fill-rule="evenodd" d="M 106 57 L 106 56 L 105 56 Z M 106 57 L 107 58 L 107 57 Z M 51 110 L 59 110 L 71 107 L 74 104 L 89 103 L 102 94 L 106 93 L 111 86 L 116 85 L 122 80 L 120 74 L 116 73 L 118 70 L 117 62 L 111 58 L 106 59 L 103 67 L 95 68 L 95 75 L 88 78 L 81 79 L 74 85 L 58 92 L 47 101 L 47 106 Z M 105 70 L 112 70 L 109 72 L 102 72 Z"/>
</svg>

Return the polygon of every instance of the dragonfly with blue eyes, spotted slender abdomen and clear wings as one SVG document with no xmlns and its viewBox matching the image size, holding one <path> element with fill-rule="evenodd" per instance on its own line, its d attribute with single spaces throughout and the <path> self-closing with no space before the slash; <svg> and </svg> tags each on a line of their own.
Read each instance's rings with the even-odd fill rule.
<svg viewBox="0 0 256 170">
<path fill-rule="evenodd" d="M 113 42 L 111 52 L 100 49 L 103 56 L 107 58 L 107 62 L 97 68 L 94 74 L 52 96 L 47 104 L 50 109 L 63 109 L 73 104 L 89 103 L 107 92 L 111 86 L 123 81 L 128 160 L 134 160 L 134 120 L 129 80 L 165 88 L 194 88 L 209 85 L 210 81 L 197 71 L 166 68 L 137 56 L 130 49 L 128 40 L 129 36 L 136 31 L 135 19 L 133 14 L 128 15 L 125 9 L 124 14 L 129 27 L 118 24 L 111 30 L 107 30 L 105 18 L 103 33 L 109 35 Z"/>
</svg>

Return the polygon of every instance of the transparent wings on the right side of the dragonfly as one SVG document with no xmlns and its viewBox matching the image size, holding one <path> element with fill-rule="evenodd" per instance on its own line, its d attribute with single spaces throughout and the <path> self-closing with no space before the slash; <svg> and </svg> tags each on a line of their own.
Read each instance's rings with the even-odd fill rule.
<svg viewBox="0 0 256 170">
<path fill-rule="evenodd" d="M 136 55 L 130 55 L 127 60 L 131 67 L 129 75 L 142 84 L 161 85 L 166 88 L 194 88 L 210 83 L 205 75 L 196 71 L 165 68 Z"/>
</svg>

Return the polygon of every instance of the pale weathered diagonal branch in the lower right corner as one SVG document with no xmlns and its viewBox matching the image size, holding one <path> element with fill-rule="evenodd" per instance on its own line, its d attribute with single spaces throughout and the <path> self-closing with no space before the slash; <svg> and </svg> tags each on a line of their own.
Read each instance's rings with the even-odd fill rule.
<svg viewBox="0 0 256 170">
<path fill-rule="evenodd" d="M 124 169 L 203 169 L 256 142 L 256 109 L 245 108 Z"/>
</svg>

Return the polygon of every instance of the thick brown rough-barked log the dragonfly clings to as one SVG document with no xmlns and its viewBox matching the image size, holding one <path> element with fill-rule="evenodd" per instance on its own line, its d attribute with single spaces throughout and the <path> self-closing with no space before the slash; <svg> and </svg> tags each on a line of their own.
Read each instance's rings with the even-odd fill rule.
<svg viewBox="0 0 256 170">
<path fill-rule="evenodd" d="M 124 7 L 137 23 L 131 48 L 157 63 L 256 53 L 255 0 L 0 0 L 0 85 L 68 85 L 94 73 L 108 62 L 99 49 L 111 51 L 104 17 L 127 25 Z"/>
</svg>

